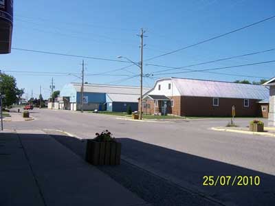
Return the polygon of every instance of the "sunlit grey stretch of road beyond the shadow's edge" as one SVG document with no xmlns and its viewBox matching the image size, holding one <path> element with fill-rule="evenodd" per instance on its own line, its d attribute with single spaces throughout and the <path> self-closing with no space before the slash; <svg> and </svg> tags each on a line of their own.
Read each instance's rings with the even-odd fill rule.
<svg viewBox="0 0 275 206">
<path fill-rule="evenodd" d="M 64 130 L 86 139 L 94 138 L 95 133 L 108 129 L 117 138 L 136 139 L 179 152 L 274 174 L 275 166 L 270 162 L 275 162 L 275 153 L 272 150 L 275 138 L 209 130 L 208 119 L 177 123 L 133 122 L 115 119 L 109 115 L 47 109 L 41 109 L 34 115 L 37 117 L 36 121 L 22 124 L 10 122 L 10 125 L 15 125 L 17 129 Z M 213 119 L 211 124 L 218 122 L 217 119 Z"/>
</svg>

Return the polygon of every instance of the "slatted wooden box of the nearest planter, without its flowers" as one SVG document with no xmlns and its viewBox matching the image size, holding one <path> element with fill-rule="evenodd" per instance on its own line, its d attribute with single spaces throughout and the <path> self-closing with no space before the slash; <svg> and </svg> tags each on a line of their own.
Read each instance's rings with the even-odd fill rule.
<svg viewBox="0 0 275 206">
<path fill-rule="evenodd" d="M 86 161 L 92 165 L 120 165 L 121 143 L 87 139 Z"/>
</svg>

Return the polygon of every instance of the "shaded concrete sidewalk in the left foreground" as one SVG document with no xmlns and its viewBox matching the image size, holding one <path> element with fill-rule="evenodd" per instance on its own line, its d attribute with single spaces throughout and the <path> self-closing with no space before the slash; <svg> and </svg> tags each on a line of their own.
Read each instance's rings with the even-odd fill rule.
<svg viewBox="0 0 275 206">
<path fill-rule="evenodd" d="M 40 130 L 0 133 L 0 205 L 148 205 Z"/>
</svg>

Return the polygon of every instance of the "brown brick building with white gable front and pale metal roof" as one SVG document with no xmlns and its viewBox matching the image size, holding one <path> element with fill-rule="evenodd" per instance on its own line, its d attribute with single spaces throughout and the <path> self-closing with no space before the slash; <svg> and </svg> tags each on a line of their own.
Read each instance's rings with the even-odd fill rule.
<svg viewBox="0 0 275 206">
<path fill-rule="evenodd" d="M 162 78 L 144 94 L 143 112 L 180 116 L 259 117 L 261 100 L 269 98 L 269 89 L 262 85 L 239 84 L 186 78 Z"/>
</svg>

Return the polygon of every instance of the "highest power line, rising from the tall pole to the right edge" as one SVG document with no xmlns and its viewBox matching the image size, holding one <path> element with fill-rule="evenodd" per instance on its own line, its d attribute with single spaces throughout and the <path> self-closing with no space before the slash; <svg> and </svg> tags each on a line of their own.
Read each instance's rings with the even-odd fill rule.
<svg viewBox="0 0 275 206">
<path fill-rule="evenodd" d="M 166 53 L 164 53 L 164 54 L 160 54 L 160 55 L 158 55 L 158 56 L 154 56 L 154 57 L 148 58 L 148 59 L 146 59 L 146 61 L 148 61 L 148 60 L 153 60 L 153 59 L 155 59 L 155 58 L 159 58 L 159 57 L 162 57 L 162 56 L 167 56 L 167 55 L 169 55 L 169 54 L 173 54 L 173 53 L 179 52 L 179 51 L 181 51 L 181 50 L 188 49 L 188 48 L 190 48 L 190 47 L 195 47 L 195 46 L 197 46 L 197 45 L 201 45 L 201 44 L 206 43 L 206 42 L 208 42 L 208 41 L 212 41 L 212 40 L 214 40 L 214 39 L 221 38 L 221 37 L 223 37 L 223 36 L 226 36 L 226 35 L 228 35 L 228 34 L 232 34 L 232 33 L 234 33 L 234 32 L 239 32 L 239 31 L 244 30 L 244 29 L 246 29 L 246 28 L 248 28 L 248 27 L 252 27 L 252 26 L 254 26 L 254 25 L 257 25 L 257 24 L 259 24 L 259 23 L 263 23 L 263 22 L 265 22 L 265 21 L 268 21 L 268 20 L 274 19 L 274 18 L 275 18 L 275 16 L 270 16 L 270 17 L 268 17 L 268 18 L 266 18 L 266 19 L 263 19 L 263 20 L 261 20 L 261 21 L 257 21 L 257 22 L 255 22 L 255 23 L 251 23 L 251 24 L 249 24 L 249 25 L 245 25 L 245 26 L 240 27 L 240 28 L 238 28 L 238 29 L 236 29 L 236 30 L 232 30 L 232 31 L 226 32 L 226 33 L 224 33 L 224 34 L 220 34 L 220 35 L 218 35 L 218 36 L 214 36 L 214 37 L 212 37 L 212 38 L 208 38 L 208 39 L 206 39 L 206 40 L 200 41 L 200 42 L 195 43 L 195 44 L 192 44 L 192 45 L 188 45 L 188 46 L 186 46 L 186 47 L 182 47 L 182 48 L 180 48 L 180 49 L 176 49 L 176 50 L 171 51 L 171 52 L 166 52 Z"/>
</svg>

